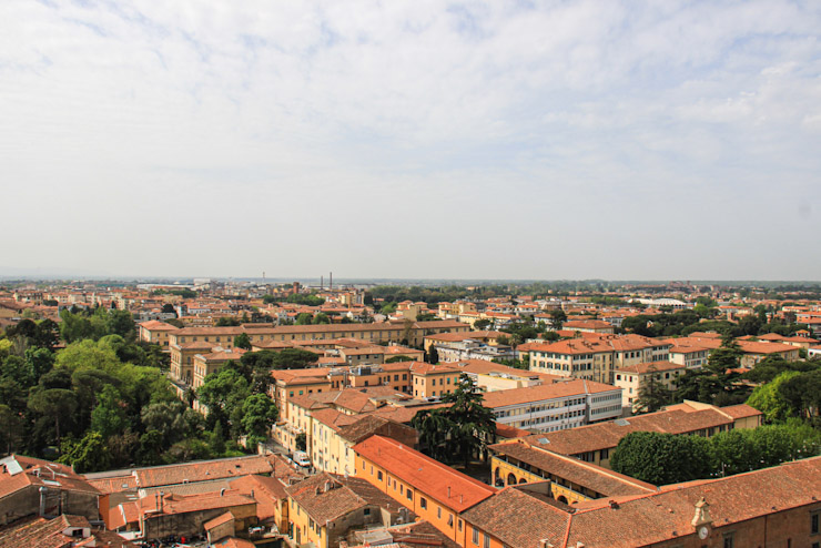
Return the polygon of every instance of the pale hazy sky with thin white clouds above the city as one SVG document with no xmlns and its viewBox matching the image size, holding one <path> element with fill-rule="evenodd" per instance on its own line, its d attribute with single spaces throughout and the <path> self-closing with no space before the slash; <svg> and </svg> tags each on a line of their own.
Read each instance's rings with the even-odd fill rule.
<svg viewBox="0 0 821 548">
<path fill-rule="evenodd" d="M 0 275 L 821 280 L 821 2 L 0 2 Z"/>
</svg>

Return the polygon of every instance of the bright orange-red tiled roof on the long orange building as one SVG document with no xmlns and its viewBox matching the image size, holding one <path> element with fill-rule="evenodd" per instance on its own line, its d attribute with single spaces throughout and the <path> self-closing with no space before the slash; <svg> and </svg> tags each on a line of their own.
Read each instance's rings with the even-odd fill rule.
<svg viewBox="0 0 821 548">
<path fill-rule="evenodd" d="M 354 451 L 456 511 L 464 511 L 496 493 L 496 488 L 395 439 L 371 436 L 356 444 Z"/>
</svg>

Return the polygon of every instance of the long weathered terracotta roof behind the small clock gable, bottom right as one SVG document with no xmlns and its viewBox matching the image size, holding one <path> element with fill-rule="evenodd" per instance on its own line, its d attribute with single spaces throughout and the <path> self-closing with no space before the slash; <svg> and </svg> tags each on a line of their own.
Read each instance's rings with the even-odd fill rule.
<svg viewBox="0 0 821 548">
<path fill-rule="evenodd" d="M 579 542 L 586 548 L 635 548 L 669 540 L 687 544 L 695 541 L 691 520 L 695 505 L 702 497 L 712 522 L 731 530 L 733 524 L 792 508 L 821 508 L 819 478 L 821 457 L 813 457 L 572 507 L 527 494 L 525 489 L 529 487 L 525 485 L 508 487 L 463 516 L 510 548 L 534 548 L 541 539 L 556 548 L 576 547 Z M 767 496 L 762 497 L 762 493 Z"/>
</svg>

